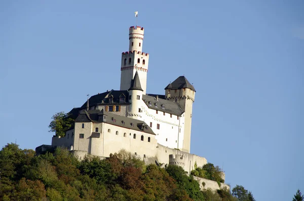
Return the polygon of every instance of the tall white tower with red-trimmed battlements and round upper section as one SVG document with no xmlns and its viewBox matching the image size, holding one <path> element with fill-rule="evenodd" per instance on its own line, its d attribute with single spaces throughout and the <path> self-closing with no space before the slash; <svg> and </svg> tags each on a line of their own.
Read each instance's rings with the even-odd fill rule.
<svg viewBox="0 0 304 201">
<path fill-rule="evenodd" d="M 143 94 L 146 93 L 149 54 L 142 52 L 143 27 L 130 27 L 129 52 L 122 53 L 120 90 L 128 90 L 136 71 Z"/>
</svg>

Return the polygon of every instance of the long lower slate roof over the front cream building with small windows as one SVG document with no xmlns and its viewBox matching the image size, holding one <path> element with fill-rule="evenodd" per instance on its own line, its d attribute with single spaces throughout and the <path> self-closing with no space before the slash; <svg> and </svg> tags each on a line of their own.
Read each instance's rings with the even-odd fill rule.
<svg viewBox="0 0 304 201">
<path fill-rule="evenodd" d="M 104 121 L 103 118 L 99 118 L 99 116 L 103 115 L 107 116 L 106 121 Z M 131 119 L 120 115 L 115 115 L 110 112 L 105 112 L 104 110 L 83 110 L 76 118 L 75 122 L 104 122 L 107 124 L 112 124 L 155 135 L 153 130 L 143 121 Z"/>
</svg>

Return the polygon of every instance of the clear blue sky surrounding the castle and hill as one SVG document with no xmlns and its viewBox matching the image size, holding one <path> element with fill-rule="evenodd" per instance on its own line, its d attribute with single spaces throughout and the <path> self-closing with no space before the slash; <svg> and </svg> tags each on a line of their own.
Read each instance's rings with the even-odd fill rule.
<svg viewBox="0 0 304 201">
<path fill-rule="evenodd" d="M 197 90 L 191 152 L 258 201 L 304 193 L 303 1 L 1 1 L 0 146 L 51 144 L 53 114 L 118 90 L 137 10 L 147 92 Z"/>
</svg>

